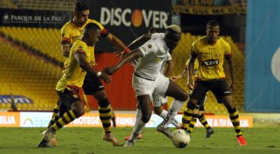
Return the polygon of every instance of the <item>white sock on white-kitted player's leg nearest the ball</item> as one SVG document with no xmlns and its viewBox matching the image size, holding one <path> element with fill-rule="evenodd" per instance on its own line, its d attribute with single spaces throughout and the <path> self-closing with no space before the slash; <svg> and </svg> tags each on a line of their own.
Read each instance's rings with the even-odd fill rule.
<svg viewBox="0 0 280 154">
<path fill-rule="evenodd" d="M 163 127 L 168 127 L 169 123 L 172 123 L 172 119 L 174 119 L 176 114 L 180 111 L 180 109 L 184 103 L 185 102 L 181 102 L 176 99 L 173 100 L 173 102 L 169 108 L 169 111 L 167 113 L 167 116 L 165 116 L 164 120 L 161 123 L 161 125 L 163 125 Z"/>
</svg>

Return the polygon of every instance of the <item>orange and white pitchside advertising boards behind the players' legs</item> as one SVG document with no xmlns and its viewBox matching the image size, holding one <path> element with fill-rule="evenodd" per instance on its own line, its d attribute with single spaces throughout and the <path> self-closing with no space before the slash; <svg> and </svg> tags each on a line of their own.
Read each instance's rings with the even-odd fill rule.
<svg viewBox="0 0 280 154">
<path fill-rule="evenodd" d="M 50 112 L 0 112 L 0 127 L 47 127 L 51 117 Z M 182 115 L 175 118 L 181 123 Z M 240 116 L 239 119 L 241 127 L 253 127 L 251 116 Z M 134 113 L 116 113 L 117 127 L 133 127 L 135 120 Z M 232 127 L 228 116 L 207 116 L 207 121 L 211 127 Z M 146 127 L 157 127 L 161 122 L 162 118 L 153 114 Z M 195 126 L 203 127 L 201 123 Z M 97 112 L 85 113 L 66 127 L 102 127 L 102 123 Z"/>
</svg>

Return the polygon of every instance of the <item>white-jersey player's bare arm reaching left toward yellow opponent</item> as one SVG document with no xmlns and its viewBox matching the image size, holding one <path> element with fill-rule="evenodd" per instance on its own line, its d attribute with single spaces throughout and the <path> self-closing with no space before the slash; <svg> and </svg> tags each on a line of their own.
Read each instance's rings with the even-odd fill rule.
<svg viewBox="0 0 280 154">
<path fill-rule="evenodd" d="M 134 51 L 128 53 L 127 55 L 125 55 L 122 59 L 120 59 L 120 62 L 118 62 L 115 66 L 106 67 L 106 68 L 102 69 L 102 73 L 111 75 L 111 74 L 115 73 L 116 71 L 118 71 L 118 69 L 120 69 L 120 67 L 123 66 L 124 64 L 126 64 L 127 62 L 130 62 L 133 59 L 137 59 L 138 57 L 141 57 L 141 56 L 142 56 L 142 52 L 138 48 L 137 50 L 134 50 Z"/>
</svg>

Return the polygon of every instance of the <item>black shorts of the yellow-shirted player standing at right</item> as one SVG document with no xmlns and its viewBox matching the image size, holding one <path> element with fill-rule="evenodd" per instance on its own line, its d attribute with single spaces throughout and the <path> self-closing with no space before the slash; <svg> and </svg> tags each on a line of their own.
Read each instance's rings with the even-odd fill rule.
<svg viewBox="0 0 280 154">
<path fill-rule="evenodd" d="M 197 99 L 198 102 L 202 102 L 205 98 L 205 94 L 211 90 L 215 95 L 218 103 L 223 103 L 222 99 L 225 96 L 231 95 L 228 89 L 228 84 L 224 78 L 216 80 L 197 80 L 195 81 L 195 88 L 190 97 Z"/>
</svg>

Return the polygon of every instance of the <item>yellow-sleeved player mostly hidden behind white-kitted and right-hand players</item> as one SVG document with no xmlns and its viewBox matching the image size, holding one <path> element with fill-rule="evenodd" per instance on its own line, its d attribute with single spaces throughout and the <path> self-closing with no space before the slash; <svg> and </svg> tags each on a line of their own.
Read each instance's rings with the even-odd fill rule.
<svg viewBox="0 0 280 154">
<path fill-rule="evenodd" d="M 171 80 L 176 81 L 176 80 L 179 80 L 181 78 L 184 78 L 186 76 L 185 74 L 188 73 L 188 63 L 189 62 L 190 62 L 190 59 L 188 59 L 188 61 L 186 62 L 186 68 L 181 73 L 179 73 L 177 76 L 172 76 Z M 193 76 L 192 76 L 193 80 L 197 76 L 197 68 L 198 68 L 198 61 L 195 60 Z M 192 93 L 192 91 L 190 91 L 190 93 Z M 200 123 L 202 123 L 202 125 L 207 129 L 205 137 L 209 138 L 209 137 L 211 137 L 211 134 L 214 133 L 214 130 L 207 123 L 207 120 L 206 120 L 205 115 L 204 115 L 204 104 L 205 104 L 206 99 L 207 99 L 207 94 L 208 94 L 208 92 L 205 94 L 204 99 L 202 99 L 201 102 L 198 102 L 198 104 L 200 105 L 200 110 L 197 113 L 197 118 L 200 120 Z M 187 106 L 186 106 L 186 108 L 187 108 Z M 184 114 L 188 114 L 188 113 L 184 113 Z M 188 125 L 188 132 L 193 132 L 193 128 L 195 127 L 196 121 L 197 121 L 196 119 L 195 119 L 195 121 L 192 121 L 192 120 L 186 121 L 186 124 L 183 123 L 183 125 Z M 190 124 L 190 123 L 192 123 L 192 124 Z"/>
</svg>

